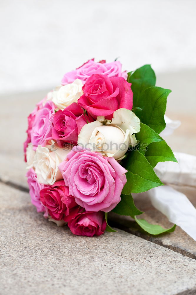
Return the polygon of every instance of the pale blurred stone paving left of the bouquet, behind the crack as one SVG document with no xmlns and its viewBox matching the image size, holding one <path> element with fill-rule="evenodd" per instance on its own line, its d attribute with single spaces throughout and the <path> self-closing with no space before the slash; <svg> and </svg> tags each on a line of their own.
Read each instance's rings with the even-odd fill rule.
<svg viewBox="0 0 196 295">
<path fill-rule="evenodd" d="M 28 188 L 23 155 L 27 116 L 46 94 L 47 90 L 0 97 L 0 179 L 4 182 Z"/>
</svg>

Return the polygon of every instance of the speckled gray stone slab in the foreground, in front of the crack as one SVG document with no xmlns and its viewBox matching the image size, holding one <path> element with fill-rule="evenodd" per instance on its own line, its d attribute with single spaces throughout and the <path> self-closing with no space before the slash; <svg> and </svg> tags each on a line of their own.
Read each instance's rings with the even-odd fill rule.
<svg viewBox="0 0 196 295">
<path fill-rule="evenodd" d="M 196 292 L 196 261 L 118 230 L 74 236 L 0 185 L 0 294 L 174 295 Z"/>
</svg>

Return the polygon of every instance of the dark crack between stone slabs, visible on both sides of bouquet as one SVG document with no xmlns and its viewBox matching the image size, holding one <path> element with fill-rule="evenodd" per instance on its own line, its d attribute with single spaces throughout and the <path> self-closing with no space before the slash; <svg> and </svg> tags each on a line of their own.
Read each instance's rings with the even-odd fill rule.
<svg viewBox="0 0 196 295">
<path fill-rule="evenodd" d="M 6 184 L 7 186 L 13 187 L 14 189 L 18 189 L 19 191 L 24 191 L 26 193 L 29 193 L 29 189 L 26 188 L 25 186 L 21 186 L 20 184 L 16 184 L 16 183 L 14 183 L 12 181 L 3 181 L 1 178 L 0 178 L 0 182 Z M 136 232 L 134 230 L 131 230 L 129 227 L 126 227 L 126 226 L 124 226 L 122 224 L 114 222 L 113 220 L 110 220 L 110 222 L 111 222 L 112 227 L 116 227 L 119 230 L 124 230 L 125 232 L 128 232 L 128 233 L 130 233 L 132 235 L 135 235 L 135 236 L 138 236 L 138 237 L 141 237 L 144 240 L 153 242 L 153 243 L 155 243 L 157 245 L 160 245 L 162 247 L 173 250 L 174 252 L 180 253 L 183 256 L 187 256 L 189 258 L 196 259 L 195 254 L 192 254 L 192 253 L 190 253 L 190 252 L 188 252 L 188 251 L 186 251 L 184 249 L 178 248 L 178 247 L 176 247 L 174 245 L 164 245 L 160 240 L 157 240 L 155 237 L 147 236 L 147 235 L 143 234 L 142 232 Z M 194 293 L 191 293 L 191 294 L 194 294 Z"/>
</svg>

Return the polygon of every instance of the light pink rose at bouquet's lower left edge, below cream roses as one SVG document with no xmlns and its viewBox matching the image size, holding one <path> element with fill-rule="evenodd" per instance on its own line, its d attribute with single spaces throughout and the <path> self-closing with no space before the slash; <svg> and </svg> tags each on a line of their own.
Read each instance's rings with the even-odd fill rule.
<svg viewBox="0 0 196 295">
<path fill-rule="evenodd" d="M 46 209 L 40 201 L 40 191 L 44 188 L 44 184 L 40 184 L 37 180 L 37 176 L 33 168 L 27 173 L 27 182 L 29 184 L 29 194 L 31 196 L 31 203 L 37 208 L 37 212 L 45 212 Z"/>
</svg>

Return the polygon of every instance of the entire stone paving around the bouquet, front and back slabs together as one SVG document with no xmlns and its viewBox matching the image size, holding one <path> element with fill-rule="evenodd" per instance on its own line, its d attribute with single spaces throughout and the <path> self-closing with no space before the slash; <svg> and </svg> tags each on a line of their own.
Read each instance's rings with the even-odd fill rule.
<svg viewBox="0 0 196 295">
<path fill-rule="evenodd" d="M 0 179 L 9 186 L 0 185 L 0 294 L 196 294 L 195 260 L 179 254 L 195 258 L 195 241 L 179 227 L 174 233 L 152 237 L 118 216 L 113 219 L 117 226 L 125 228 L 126 222 L 126 230 L 134 235 L 118 230 L 99 238 L 77 237 L 67 227 L 45 220 L 31 205 L 29 194 L 20 191 L 28 189 L 22 151 L 26 117 L 46 93 L 1 99 Z M 168 143 L 176 151 L 195 154 L 195 118 L 179 108 L 177 114 L 177 94 L 173 100 L 170 116 L 179 119 L 180 114 L 182 126 Z M 195 204 L 195 191 L 187 196 Z M 135 204 L 149 222 L 171 225 L 149 200 L 137 198 Z"/>
</svg>

